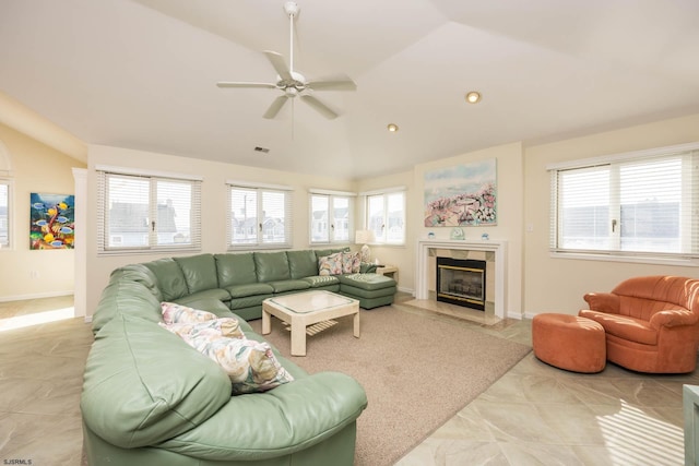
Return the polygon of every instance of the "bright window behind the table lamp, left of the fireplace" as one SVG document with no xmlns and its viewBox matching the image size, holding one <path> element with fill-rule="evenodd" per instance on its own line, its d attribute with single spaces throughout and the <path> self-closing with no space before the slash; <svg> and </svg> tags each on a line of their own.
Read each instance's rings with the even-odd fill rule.
<svg viewBox="0 0 699 466">
<path fill-rule="evenodd" d="M 366 213 L 377 243 L 405 243 L 405 191 L 367 194 Z"/>
</svg>

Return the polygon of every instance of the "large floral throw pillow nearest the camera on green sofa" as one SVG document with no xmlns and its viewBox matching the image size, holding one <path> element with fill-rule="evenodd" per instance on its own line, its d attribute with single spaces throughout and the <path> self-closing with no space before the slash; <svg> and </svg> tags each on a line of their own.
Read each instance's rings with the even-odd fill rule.
<svg viewBox="0 0 699 466">
<path fill-rule="evenodd" d="M 245 338 L 210 338 L 206 335 L 186 342 L 226 371 L 234 395 L 266 392 L 294 380 L 276 359 L 269 343 Z"/>
</svg>

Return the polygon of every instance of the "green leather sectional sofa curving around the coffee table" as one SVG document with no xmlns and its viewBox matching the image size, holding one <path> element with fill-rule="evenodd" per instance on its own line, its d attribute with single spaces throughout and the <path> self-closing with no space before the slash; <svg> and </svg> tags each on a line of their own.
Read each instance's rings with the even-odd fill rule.
<svg viewBox="0 0 699 466">
<path fill-rule="evenodd" d="M 263 342 L 244 319 L 259 318 L 262 300 L 274 294 L 315 288 L 354 292 L 367 306 L 389 301 L 380 290 L 390 289 L 386 280 L 392 279 L 372 273 L 344 282 L 321 277 L 316 254 L 199 254 L 114 271 L 93 315 L 95 342 L 81 397 L 88 464 L 352 465 L 356 419 L 367 406 L 353 378 L 308 374 L 273 348 L 294 381 L 232 396 L 216 362 L 158 324 L 161 302 L 176 301 L 237 316 L 247 338 Z"/>
</svg>

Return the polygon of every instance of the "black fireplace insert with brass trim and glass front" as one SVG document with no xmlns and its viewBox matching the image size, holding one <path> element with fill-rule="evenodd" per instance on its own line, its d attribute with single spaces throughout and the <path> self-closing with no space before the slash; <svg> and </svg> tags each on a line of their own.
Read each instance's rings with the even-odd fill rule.
<svg viewBox="0 0 699 466">
<path fill-rule="evenodd" d="M 485 310 L 486 261 L 437 258 L 437 300 Z"/>
</svg>

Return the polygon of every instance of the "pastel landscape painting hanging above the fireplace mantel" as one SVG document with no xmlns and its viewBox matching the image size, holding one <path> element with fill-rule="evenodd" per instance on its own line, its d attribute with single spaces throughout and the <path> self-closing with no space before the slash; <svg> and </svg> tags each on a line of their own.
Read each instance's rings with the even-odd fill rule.
<svg viewBox="0 0 699 466">
<path fill-rule="evenodd" d="M 495 158 L 425 172 L 425 226 L 497 225 Z"/>
</svg>

